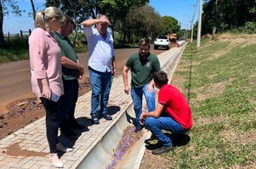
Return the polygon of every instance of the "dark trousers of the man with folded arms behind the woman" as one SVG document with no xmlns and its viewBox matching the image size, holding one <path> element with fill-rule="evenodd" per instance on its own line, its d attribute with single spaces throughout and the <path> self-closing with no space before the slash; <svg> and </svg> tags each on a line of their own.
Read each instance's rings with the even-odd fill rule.
<svg viewBox="0 0 256 169">
<path fill-rule="evenodd" d="M 63 79 L 64 95 L 60 97 L 60 130 L 68 131 L 76 125 L 75 108 L 78 101 L 78 79 Z"/>
</svg>

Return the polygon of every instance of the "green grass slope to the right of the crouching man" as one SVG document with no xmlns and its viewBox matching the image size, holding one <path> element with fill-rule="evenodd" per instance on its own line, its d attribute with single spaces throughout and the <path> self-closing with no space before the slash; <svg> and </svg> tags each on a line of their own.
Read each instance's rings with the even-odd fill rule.
<svg viewBox="0 0 256 169">
<path fill-rule="evenodd" d="M 186 79 L 179 88 L 194 126 L 187 145 L 162 156 L 167 168 L 255 168 L 256 44 L 233 44 L 204 39 L 183 52 L 175 73 Z"/>
</svg>

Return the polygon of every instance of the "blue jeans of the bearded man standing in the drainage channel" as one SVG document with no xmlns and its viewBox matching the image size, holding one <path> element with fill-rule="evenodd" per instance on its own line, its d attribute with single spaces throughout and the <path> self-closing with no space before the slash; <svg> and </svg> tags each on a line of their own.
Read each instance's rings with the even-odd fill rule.
<svg viewBox="0 0 256 169">
<path fill-rule="evenodd" d="M 155 91 L 154 90 L 153 92 L 147 91 L 148 85 L 149 83 L 145 84 L 143 87 L 131 89 L 134 112 L 136 115 L 136 120 L 134 122 L 135 126 L 140 124 L 140 115 L 142 114 L 142 95 L 143 94 L 145 95 L 145 98 L 146 98 L 148 112 L 155 110 Z"/>
</svg>

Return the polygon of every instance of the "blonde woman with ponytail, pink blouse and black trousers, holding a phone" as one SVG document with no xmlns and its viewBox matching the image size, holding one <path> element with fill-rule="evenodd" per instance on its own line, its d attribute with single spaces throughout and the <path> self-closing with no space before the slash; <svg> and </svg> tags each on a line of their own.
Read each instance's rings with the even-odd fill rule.
<svg viewBox="0 0 256 169">
<path fill-rule="evenodd" d="M 65 24 L 65 16 L 56 7 L 48 7 L 37 12 L 35 29 L 29 37 L 29 59 L 31 67 L 32 90 L 40 97 L 46 112 L 46 135 L 50 147 L 52 165 L 63 168 L 57 151 L 68 152 L 58 143 L 59 129 L 59 97 L 63 95 L 60 47 L 55 41 L 52 31 L 57 31 Z"/>
</svg>

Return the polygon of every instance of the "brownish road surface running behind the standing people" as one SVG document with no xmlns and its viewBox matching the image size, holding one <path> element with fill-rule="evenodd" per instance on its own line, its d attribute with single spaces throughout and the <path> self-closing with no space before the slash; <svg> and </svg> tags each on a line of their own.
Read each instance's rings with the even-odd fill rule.
<svg viewBox="0 0 256 169">
<path fill-rule="evenodd" d="M 116 67 L 118 70 L 122 69 L 127 58 L 138 52 L 138 48 L 132 49 L 116 49 Z M 153 54 L 160 54 L 164 50 L 153 50 Z M 84 77 L 88 77 L 88 54 L 78 54 L 78 58 L 86 67 L 86 74 Z M 16 100 L 24 98 L 34 97 L 31 90 L 30 83 L 30 67 L 29 60 L 20 62 L 11 62 L 0 65 L 0 115 L 8 112 L 6 105 Z"/>
</svg>

